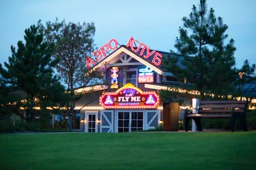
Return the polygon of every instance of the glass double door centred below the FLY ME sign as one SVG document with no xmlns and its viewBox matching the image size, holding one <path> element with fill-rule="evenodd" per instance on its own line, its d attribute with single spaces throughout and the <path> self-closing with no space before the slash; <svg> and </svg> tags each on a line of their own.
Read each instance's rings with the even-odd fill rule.
<svg viewBox="0 0 256 170">
<path fill-rule="evenodd" d="M 143 111 L 118 111 L 118 132 L 143 130 Z"/>
</svg>

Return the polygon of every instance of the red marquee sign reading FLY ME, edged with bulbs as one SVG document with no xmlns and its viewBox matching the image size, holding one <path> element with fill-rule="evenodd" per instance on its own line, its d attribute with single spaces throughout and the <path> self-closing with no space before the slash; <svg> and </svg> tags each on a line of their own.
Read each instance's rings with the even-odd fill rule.
<svg viewBox="0 0 256 170">
<path fill-rule="evenodd" d="M 105 109 L 111 108 L 157 108 L 160 99 L 156 92 L 143 92 L 127 83 L 116 92 L 105 92 L 100 97 L 100 104 Z"/>
</svg>

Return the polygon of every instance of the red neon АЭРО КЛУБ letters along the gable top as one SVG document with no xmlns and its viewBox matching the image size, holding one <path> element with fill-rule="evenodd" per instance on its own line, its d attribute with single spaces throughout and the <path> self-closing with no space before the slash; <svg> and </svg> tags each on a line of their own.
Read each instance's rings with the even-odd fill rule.
<svg viewBox="0 0 256 170">
<path fill-rule="evenodd" d="M 136 43 L 138 44 L 138 47 L 134 47 L 136 46 Z M 161 58 L 163 57 L 163 55 L 159 52 L 156 52 L 155 50 L 150 50 L 149 46 L 145 45 L 144 43 L 139 43 L 138 39 L 130 37 L 126 46 L 136 53 L 140 52 L 140 56 L 145 59 L 154 56 L 152 59 L 152 63 L 156 66 L 159 66 L 161 64 Z M 116 50 L 116 48 L 118 48 L 118 43 L 116 39 L 110 39 L 107 44 L 100 46 L 99 50 L 93 52 L 92 57 L 94 59 L 92 59 L 92 57 L 86 57 L 87 68 L 89 69 L 90 66 L 94 66 L 102 58 L 108 57 L 108 53 Z"/>
</svg>

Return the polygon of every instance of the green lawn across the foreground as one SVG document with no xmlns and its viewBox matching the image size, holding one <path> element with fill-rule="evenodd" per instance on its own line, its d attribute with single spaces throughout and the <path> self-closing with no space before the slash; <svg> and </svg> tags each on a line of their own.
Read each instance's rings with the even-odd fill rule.
<svg viewBox="0 0 256 170">
<path fill-rule="evenodd" d="M 256 132 L 0 134 L 0 169 L 255 169 Z"/>
</svg>

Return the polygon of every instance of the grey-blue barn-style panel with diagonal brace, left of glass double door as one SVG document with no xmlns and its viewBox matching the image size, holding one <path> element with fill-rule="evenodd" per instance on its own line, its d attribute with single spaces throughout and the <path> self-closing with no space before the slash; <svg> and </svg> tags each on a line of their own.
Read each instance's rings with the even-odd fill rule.
<svg viewBox="0 0 256 170">
<path fill-rule="evenodd" d="M 100 132 L 114 132 L 114 111 L 100 111 Z"/>
</svg>

